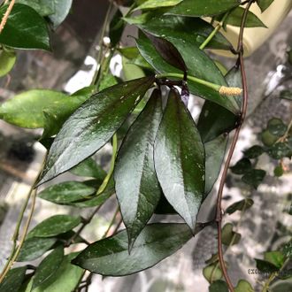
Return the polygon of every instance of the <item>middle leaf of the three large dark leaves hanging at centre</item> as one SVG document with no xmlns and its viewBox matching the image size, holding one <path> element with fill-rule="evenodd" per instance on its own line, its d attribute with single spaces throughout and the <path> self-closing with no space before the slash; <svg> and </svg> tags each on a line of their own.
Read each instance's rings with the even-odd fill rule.
<svg viewBox="0 0 292 292">
<path fill-rule="evenodd" d="M 153 147 L 161 117 L 161 93 L 155 89 L 119 149 L 115 167 L 116 193 L 130 248 L 160 199 Z"/>
</svg>

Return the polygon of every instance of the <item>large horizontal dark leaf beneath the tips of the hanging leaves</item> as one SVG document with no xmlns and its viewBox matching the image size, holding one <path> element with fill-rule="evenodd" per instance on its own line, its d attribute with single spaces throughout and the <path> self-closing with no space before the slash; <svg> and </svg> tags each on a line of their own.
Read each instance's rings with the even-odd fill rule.
<svg viewBox="0 0 292 292">
<path fill-rule="evenodd" d="M 73 260 L 93 273 L 125 276 L 137 273 L 169 257 L 188 242 L 192 234 L 185 224 L 147 225 L 128 253 L 127 232 L 123 230 L 109 238 L 90 244 Z M 114 265 L 112 265 L 114 263 Z"/>
</svg>

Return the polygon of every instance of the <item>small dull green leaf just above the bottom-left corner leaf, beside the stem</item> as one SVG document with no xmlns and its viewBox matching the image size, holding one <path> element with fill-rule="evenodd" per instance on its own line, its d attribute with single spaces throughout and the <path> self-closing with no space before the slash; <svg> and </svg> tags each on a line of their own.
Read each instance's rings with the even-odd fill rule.
<svg viewBox="0 0 292 292">
<path fill-rule="evenodd" d="M 57 242 L 56 238 L 28 238 L 19 253 L 18 262 L 27 262 L 41 257 Z"/>
</svg>

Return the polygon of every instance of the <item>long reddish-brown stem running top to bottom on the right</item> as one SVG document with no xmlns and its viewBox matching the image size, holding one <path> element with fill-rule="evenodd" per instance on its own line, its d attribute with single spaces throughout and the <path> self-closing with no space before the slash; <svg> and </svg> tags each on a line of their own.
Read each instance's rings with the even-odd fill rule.
<svg viewBox="0 0 292 292">
<path fill-rule="evenodd" d="M 218 255 L 219 255 L 219 265 L 222 270 L 222 273 L 224 275 L 225 280 L 227 281 L 227 286 L 231 292 L 234 292 L 233 284 L 228 276 L 227 268 L 224 263 L 224 256 L 223 256 L 223 248 L 222 248 L 222 197 L 223 197 L 223 188 L 225 185 L 225 182 L 227 180 L 227 172 L 228 168 L 231 162 L 231 159 L 234 154 L 235 146 L 238 142 L 238 137 L 242 129 L 242 124 L 246 116 L 247 106 L 248 106 L 248 87 L 247 87 L 247 80 L 246 80 L 246 74 L 245 74 L 245 68 L 244 68 L 244 62 L 243 62 L 243 32 L 244 27 L 246 23 L 246 19 L 248 16 L 248 12 L 250 10 L 251 4 L 254 2 L 254 0 L 250 0 L 250 2 L 247 4 L 244 13 L 242 15 L 242 24 L 240 29 L 240 34 L 238 38 L 238 46 L 236 53 L 238 54 L 238 62 L 241 67 L 241 73 L 242 73 L 242 89 L 243 89 L 243 101 L 242 101 L 242 111 L 241 111 L 241 119 L 237 127 L 235 128 L 234 138 L 231 142 L 230 150 L 227 155 L 227 161 L 224 165 L 223 173 L 221 176 L 220 184 L 219 184 L 219 191 L 218 191 L 218 197 L 217 197 L 217 206 L 216 206 L 216 222 L 217 222 L 217 229 L 218 229 Z"/>
</svg>

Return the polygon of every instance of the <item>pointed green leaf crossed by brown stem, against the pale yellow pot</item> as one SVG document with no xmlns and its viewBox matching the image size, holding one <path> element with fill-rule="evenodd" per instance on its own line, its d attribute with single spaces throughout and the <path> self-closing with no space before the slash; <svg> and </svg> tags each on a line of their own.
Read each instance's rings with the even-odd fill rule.
<svg viewBox="0 0 292 292">
<path fill-rule="evenodd" d="M 242 7 L 235 8 L 232 12 L 228 14 L 226 23 L 234 27 L 240 27 L 244 11 L 245 9 Z M 256 14 L 248 12 L 245 27 L 265 27 L 265 24 L 257 18 Z"/>
</svg>

